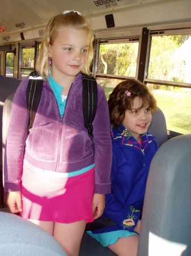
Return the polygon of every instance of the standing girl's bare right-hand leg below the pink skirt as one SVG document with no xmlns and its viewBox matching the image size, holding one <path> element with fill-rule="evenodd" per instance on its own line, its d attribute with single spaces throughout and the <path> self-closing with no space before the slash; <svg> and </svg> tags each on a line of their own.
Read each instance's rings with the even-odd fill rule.
<svg viewBox="0 0 191 256">
<path fill-rule="evenodd" d="M 53 237 L 60 243 L 69 256 L 78 256 L 86 221 L 69 224 L 54 222 Z"/>
</svg>

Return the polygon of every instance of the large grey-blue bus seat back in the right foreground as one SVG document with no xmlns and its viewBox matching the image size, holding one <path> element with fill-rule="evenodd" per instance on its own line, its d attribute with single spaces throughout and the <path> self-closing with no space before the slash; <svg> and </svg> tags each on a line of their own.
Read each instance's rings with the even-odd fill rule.
<svg viewBox="0 0 191 256">
<path fill-rule="evenodd" d="M 138 256 L 191 255 L 191 134 L 169 139 L 148 174 Z"/>
</svg>

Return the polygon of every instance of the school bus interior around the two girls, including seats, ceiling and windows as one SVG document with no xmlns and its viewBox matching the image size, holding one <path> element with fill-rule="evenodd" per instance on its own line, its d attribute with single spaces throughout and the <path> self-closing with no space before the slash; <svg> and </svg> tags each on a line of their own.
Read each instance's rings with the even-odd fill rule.
<svg viewBox="0 0 191 256">
<path fill-rule="evenodd" d="M 147 84 L 158 102 L 148 130 L 159 150 L 147 180 L 138 256 L 190 256 L 190 0 L 1 1 L 0 254 L 66 255 L 46 232 L 11 214 L 3 192 L 12 98 L 35 69 L 46 23 L 65 10 L 79 11 L 95 31 L 92 75 L 107 98 L 130 78 Z M 115 254 L 84 233 L 79 255 Z"/>
</svg>

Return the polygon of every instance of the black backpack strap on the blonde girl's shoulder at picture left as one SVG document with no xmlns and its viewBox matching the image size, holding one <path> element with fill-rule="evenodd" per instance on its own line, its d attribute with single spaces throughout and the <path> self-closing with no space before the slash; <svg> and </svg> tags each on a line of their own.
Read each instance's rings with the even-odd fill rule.
<svg viewBox="0 0 191 256">
<path fill-rule="evenodd" d="M 36 71 L 31 72 L 27 86 L 27 107 L 28 107 L 28 133 L 32 128 L 35 115 L 39 107 L 41 92 L 43 89 L 43 78 Z"/>
</svg>

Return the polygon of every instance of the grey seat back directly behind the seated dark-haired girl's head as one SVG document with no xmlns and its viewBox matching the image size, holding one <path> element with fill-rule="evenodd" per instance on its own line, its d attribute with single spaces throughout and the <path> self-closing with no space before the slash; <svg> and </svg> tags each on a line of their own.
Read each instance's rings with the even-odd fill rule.
<svg viewBox="0 0 191 256">
<path fill-rule="evenodd" d="M 167 125 L 165 121 L 164 114 L 161 109 L 158 108 L 156 112 L 152 114 L 152 121 L 148 127 L 148 131 L 155 135 L 156 141 L 159 147 L 168 139 L 167 135 Z"/>
</svg>

